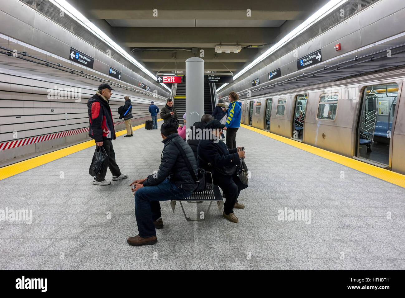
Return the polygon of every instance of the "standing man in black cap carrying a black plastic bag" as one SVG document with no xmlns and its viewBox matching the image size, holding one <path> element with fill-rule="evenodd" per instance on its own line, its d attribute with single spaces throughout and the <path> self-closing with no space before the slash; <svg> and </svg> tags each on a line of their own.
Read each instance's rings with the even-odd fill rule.
<svg viewBox="0 0 405 298">
<path fill-rule="evenodd" d="M 89 136 L 94 138 L 97 146 L 102 146 L 108 154 L 108 160 L 104 164 L 101 173 L 96 175 L 93 179 L 93 184 L 96 185 L 109 185 L 111 181 L 104 179 L 107 174 L 107 167 L 113 174 L 113 180 L 125 179 L 128 176 L 122 174 L 115 162 L 115 152 L 111 140 L 115 140 L 115 130 L 113 115 L 109 106 L 109 99 L 111 97 L 110 85 L 102 83 L 98 86 L 96 94 L 89 98 L 87 106 L 89 108 Z"/>
</svg>

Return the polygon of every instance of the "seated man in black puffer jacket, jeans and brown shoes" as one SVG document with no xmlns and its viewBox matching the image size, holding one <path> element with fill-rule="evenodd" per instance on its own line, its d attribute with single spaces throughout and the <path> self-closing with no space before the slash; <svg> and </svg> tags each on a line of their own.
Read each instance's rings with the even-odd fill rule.
<svg viewBox="0 0 405 298">
<path fill-rule="evenodd" d="M 158 241 L 155 228 L 163 228 L 159 201 L 188 198 L 197 186 L 179 147 L 184 151 L 196 176 L 197 161 L 190 146 L 177 133 L 177 124 L 163 123 L 160 132 L 164 147 L 159 171 L 130 184 L 135 187 L 132 191 L 135 192 L 135 217 L 139 234 L 128 238 L 127 242 L 134 246 L 152 245 Z"/>
</svg>

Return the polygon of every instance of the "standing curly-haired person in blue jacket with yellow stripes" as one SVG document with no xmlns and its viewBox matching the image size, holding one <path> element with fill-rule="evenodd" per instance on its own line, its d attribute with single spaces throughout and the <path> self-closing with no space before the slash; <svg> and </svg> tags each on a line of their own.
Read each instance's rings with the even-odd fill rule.
<svg viewBox="0 0 405 298">
<path fill-rule="evenodd" d="M 226 130 L 226 145 L 229 149 L 234 149 L 236 148 L 236 132 L 241 124 L 242 104 L 238 101 L 239 95 L 237 93 L 232 91 L 228 97 L 230 102 L 224 130 Z"/>
</svg>

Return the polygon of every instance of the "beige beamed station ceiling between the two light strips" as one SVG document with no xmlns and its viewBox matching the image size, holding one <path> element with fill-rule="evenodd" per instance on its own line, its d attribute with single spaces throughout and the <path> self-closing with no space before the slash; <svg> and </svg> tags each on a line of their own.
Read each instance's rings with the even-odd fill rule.
<svg viewBox="0 0 405 298">
<path fill-rule="evenodd" d="M 237 73 L 328 0 L 68 2 L 156 74 L 185 73 L 201 50 L 206 72 Z M 242 50 L 215 53 L 220 44 Z"/>
</svg>

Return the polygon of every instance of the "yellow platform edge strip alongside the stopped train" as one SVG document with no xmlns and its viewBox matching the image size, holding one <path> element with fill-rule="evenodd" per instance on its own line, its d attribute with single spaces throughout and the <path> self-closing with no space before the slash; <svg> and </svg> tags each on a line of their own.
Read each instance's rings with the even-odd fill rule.
<svg viewBox="0 0 405 298">
<path fill-rule="evenodd" d="M 320 157 L 326 158 L 327 160 L 331 160 L 333 162 L 337 162 L 338 164 L 342 164 L 343 166 L 347 166 L 354 170 L 358 170 L 365 174 L 371 175 L 373 177 L 379 178 L 381 180 L 390 182 L 392 184 L 405 187 L 405 175 L 392 172 L 390 170 L 379 168 L 378 166 L 373 166 L 372 164 L 367 164 L 365 162 L 360 162 L 359 160 L 355 160 L 353 158 L 349 158 L 337 153 L 333 153 L 330 151 L 326 151 L 324 149 L 320 149 L 305 143 L 298 142 L 296 140 L 292 140 L 290 138 L 286 138 L 284 136 L 279 136 L 277 134 L 273 134 L 271 132 L 266 132 L 264 130 L 260 130 L 258 128 L 254 128 L 251 126 L 247 126 L 245 124 L 241 124 L 241 127 L 247 128 L 248 130 L 252 130 L 264 136 L 268 136 L 274 140 L 278 140 L 282 143 L 294 146 L 298 149 L 307 151 L 309 153 L 318 155 Z"/>
</svg>

